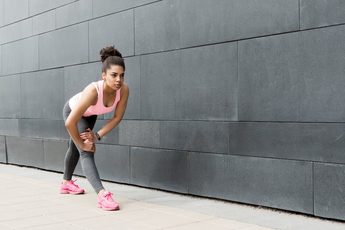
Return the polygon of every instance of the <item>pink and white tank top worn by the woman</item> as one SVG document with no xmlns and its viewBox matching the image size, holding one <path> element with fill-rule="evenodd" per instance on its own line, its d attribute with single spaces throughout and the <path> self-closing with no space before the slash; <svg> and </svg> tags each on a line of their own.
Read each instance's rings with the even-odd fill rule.
<svg viewBox="0 0 345 230">
<path fill-rule="evenodd" d="M 94 106 L 90 106 L 85 111 L 85 113 L 83 114 L 84 117 L 88 117 L 88 116 L 91 116 L 91 115 L 100 115 L 100 114 L 103 114 L 103 113 L 111 112 L 112 110 L 115 109 L 117 102 L 119 102 L 119 100 L 120 100 L 120 89 L 116 91 L 115 101 L 114 101 L 114 104 L 111 107 L 105 107 L 103 105 L 103 82 L 104 82 L 104 80 L 98 81 L 98 88 L 99 88 L 99 90 L 98 90 L 95 82 L 92 82 L 92 84 L 97 89 L 98 100 L 97 100 L 97 103 Z M 77 101 L 81 98 L 81 93 L 82 92 L 76 94 L 71 99 L 69 99 L 69 107 L 71 108 L 71 110 L 76 105 Z"/>
</svg>

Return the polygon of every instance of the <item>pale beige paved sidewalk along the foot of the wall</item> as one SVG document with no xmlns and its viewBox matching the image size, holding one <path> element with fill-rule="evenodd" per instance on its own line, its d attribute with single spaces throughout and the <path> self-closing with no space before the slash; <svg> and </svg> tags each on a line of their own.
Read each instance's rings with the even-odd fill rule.
<svg viewBox="0 0 345 230">
<path fill-rule="evenodd" d="M 89 182 L 84 194 L 60 194 L 62 174 L 0 163 L 1 230 L 270 230 L 345 229 L 341 221 L 215 199 L 103 182 L 120 210 L 97 208 Z M 115 196 L 117 195 L 117 196 Z"/>
</svg>

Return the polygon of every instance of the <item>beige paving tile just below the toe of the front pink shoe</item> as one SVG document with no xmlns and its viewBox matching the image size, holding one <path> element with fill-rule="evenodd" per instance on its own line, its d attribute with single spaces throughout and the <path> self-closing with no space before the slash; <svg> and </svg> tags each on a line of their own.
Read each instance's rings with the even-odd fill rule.
<svg viewBox="0 0 345 230">
<path fill-rule="evenodd" d="M 129 212 L 122 212 L 122 213 L 115 213 L 114 216 L 116 218 L 120 218 L 122 220 L 127 221 L 137 221 L 137 220 L 145 220 L 149 218 L 160 218 L 162 216 L 166 216 L 167 213 L 164 212 L 157 212 L 154 210 L 146 209 L 145 211 L 142 210 L 135 210 Z"/>
</svg>

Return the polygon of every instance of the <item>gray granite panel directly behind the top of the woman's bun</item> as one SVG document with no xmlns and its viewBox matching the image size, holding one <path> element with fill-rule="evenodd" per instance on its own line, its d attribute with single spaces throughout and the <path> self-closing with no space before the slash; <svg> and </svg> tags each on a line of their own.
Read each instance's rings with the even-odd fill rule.
<svg viewBox="0 0 345 230">
<path fill-rule="evenodd" d="M 133 10 L 126 10 L 89 21 L 90 61 L 99 61 L 99 51 L 114 45 L 122 57 L 134 55 Z"/>
</svg>

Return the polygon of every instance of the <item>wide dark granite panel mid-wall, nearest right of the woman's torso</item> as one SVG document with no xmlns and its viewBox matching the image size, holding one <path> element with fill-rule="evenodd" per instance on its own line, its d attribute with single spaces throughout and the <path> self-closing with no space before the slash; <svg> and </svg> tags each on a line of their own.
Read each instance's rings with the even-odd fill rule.
<svg viewBox="0 0 345 230">
<path fill-rule="evenodd" d="M 140 80 L 141 119 L 237 121 L 236 42 L 141 56 Z"/>
</svg>

